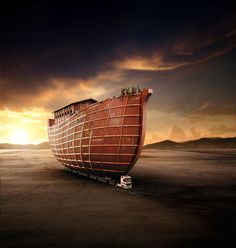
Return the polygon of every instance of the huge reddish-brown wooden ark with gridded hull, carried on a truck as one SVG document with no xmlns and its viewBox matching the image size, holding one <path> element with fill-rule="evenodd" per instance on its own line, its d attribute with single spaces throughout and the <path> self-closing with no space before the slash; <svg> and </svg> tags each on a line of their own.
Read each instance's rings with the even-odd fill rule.
<svg viewBox="0 0 236 248">
<path fill-rule="evenodd" d="M 151 89 L 128 88 L 121 95 L 87 99 L 54 111 L 48 121 L 53 154 L 67 168 L 100 177 L 119 177 L 135 165 L 145 136 Z"/>
</svg>

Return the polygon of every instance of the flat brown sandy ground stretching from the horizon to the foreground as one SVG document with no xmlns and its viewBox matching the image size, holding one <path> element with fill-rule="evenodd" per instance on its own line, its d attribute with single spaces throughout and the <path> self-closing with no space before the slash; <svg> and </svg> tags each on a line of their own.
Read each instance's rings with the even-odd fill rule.
<svg viewBox="0 0 236 248">
<path fill-rule="evenodd" d="M 1 247 L 230 247 L 236 151 L 142 153 L 123 189 L 48 150 L 0 151 Z"/>
</svg>

